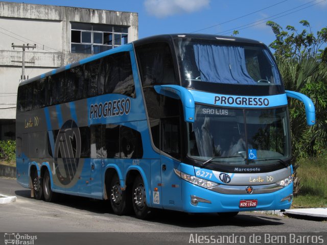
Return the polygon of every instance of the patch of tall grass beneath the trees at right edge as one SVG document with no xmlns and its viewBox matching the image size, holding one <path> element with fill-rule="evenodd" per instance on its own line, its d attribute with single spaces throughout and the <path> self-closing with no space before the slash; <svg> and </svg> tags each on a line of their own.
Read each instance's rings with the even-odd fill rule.
<svg viewBox="0 0 327 245">
<path fill-rule="evenodd" d="M 298 163 L 297 175 L 301 188 L 292 207 L 327 207 L 327 155 L 302 159 Z"/>
</svg>

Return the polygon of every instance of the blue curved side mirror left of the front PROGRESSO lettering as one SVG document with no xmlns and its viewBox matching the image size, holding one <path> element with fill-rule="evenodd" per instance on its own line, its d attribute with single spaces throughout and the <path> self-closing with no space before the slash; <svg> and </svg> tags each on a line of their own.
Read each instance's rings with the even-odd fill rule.
<svg viewBox="0 0 327 245">
<path fill-rule="evenodd" d="M 155 85 L 154 89 L 158 94 L 181 100 L 184 120 L 186 122 L 194 122 L 195 104 L 193 95 L 188 89 L 178 85 Z"/>
</svg>

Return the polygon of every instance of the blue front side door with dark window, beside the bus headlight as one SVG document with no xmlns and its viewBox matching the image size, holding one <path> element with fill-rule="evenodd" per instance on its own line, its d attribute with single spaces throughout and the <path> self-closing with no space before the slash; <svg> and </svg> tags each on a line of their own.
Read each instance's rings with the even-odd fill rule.
<svg viewBox="0 0 327 245">
<path fill-rule="evenodd" d="M 180 157 L 179 117 L 160 120 L 161 151 L 178 159 Z M 174 168 L 180 170 L 180 162 L 173 157 L 161 155 L 162 207 L 172 210 L 182 209 L 181 178 Z"/>
</svg>

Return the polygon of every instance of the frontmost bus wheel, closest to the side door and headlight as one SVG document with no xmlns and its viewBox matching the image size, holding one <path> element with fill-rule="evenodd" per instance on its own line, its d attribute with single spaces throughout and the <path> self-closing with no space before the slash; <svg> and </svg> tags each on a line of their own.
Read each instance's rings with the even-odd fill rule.
<svg viewBox="0 0 327 245">
<path fill-rule="evenodd" d="M 145 219 L 149 217 L 150 208 L 146 202 L 146 191 L 141 176 L 137 176 L 133 184 L 132 204 L 137 218 Z"/>
</svg>

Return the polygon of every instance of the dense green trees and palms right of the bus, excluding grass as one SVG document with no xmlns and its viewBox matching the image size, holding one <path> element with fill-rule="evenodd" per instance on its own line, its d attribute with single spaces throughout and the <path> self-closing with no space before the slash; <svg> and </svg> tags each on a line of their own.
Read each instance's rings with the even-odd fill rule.
<svg viewBox="0 0 327 245">
<path fill-rule="evenodd" d="M 327 28 L 315 36 L 307 20 L 300 23 L 309 31 L 298 32 L 292 26 L 287 26 L 285 31 L 277 23 L 267 22 L 276 37 L 269 47 L 274 50 L 285 89 L 306 94 L 316 108 L 316 125 L 309 128 L 303 105 L 289 99 L 295 194 L 300 187 L 296 176 L 297 159 L 313 157 L 327 149 L 327 48 L 321 49 L 327 42 Z"/>
</svg>

